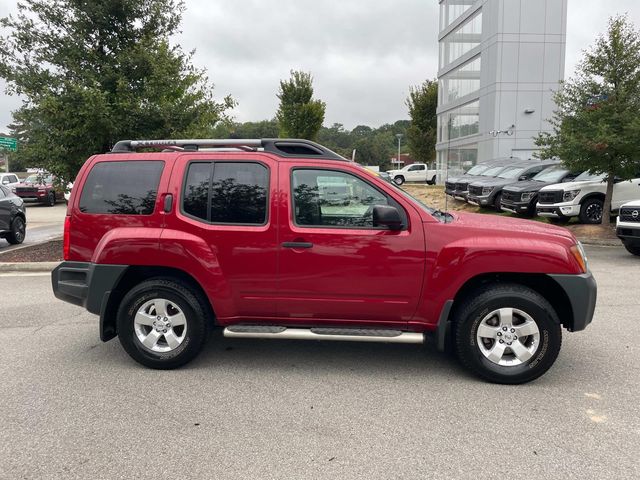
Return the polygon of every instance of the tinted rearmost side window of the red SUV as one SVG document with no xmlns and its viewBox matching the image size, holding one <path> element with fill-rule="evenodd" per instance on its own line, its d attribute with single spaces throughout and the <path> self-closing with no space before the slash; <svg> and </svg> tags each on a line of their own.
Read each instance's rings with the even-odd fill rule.
<svg viewBox="0 0 640 480">
<path fill-rule="evenodd" d="M 87 176 L 80 197 L 83 213 L 151 215 L 164 162 L 100 162 Z"/>
</svg>

